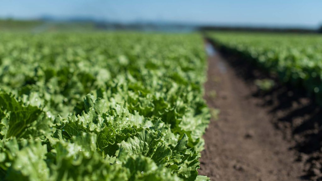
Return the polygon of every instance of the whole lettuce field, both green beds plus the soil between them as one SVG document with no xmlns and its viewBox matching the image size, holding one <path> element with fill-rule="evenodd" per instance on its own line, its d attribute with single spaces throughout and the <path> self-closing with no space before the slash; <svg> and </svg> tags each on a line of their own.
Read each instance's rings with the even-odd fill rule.
<svg viewBox="0 0 322 181">
<path fill-rule="evenodd" d="M 204 35 L 1 32 L 0 180 L 321 179 L 321 36 Z"/>
</svg>

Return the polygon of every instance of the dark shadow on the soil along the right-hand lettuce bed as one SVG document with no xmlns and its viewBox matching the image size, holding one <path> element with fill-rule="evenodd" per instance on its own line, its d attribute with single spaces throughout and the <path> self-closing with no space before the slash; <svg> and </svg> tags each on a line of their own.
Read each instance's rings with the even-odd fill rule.
<svg viewBox="0 0 322 181">
<path fill-rule="evenodd" d="M 290 149 L 298 152 L 298 159 L 295 161 L 305 164 L 307 174 L 302 178 L 322 180 L 322 109 L 312 101 L 314 99 L 307 96 L 304 90 L 282 84 L 276 76 L 260 70 L 250 56 L 207 40 L 235 73 L 254 88 L 251 96 L 264 100 L 259 106 L 265 107 L 274 115 L 276 119 L 272 123 L 283 132 L 286 140 L 293 143 L 294 147 Z M 262 91 L 255 86 L 255 80 L 267 78 L 275 81 L 275 86 L 270 91 Z"/>
</svg>

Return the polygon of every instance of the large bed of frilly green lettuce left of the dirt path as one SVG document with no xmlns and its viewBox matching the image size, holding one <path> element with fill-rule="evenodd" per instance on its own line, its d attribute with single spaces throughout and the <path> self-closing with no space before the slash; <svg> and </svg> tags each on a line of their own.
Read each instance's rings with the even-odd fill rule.
<svg viewBox="0 0 322 181">
<path fill-rule="evenodd" d="M 196 34 L 0 36 L 0 180 L 209 180 Z"/>
</svg>

